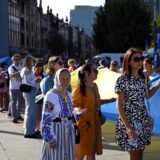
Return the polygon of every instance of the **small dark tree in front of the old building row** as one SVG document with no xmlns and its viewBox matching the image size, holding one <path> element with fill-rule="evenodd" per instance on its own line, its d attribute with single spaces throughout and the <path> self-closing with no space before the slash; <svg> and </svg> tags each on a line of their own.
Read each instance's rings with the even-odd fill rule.
<svg viewBox="0 0 160 160">
<path fill-rule="evenodd" d="M 48 47 L 54 55 L 62 54 L 66 49 L 63 36 L 58 32 L 53 33 L 49 38 Z"/>
</svg>

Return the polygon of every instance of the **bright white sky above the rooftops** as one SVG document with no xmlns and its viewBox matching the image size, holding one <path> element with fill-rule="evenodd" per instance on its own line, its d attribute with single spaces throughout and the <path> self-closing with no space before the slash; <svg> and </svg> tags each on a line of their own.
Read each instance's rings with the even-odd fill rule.
<svg viewBox="0 0 160 160">
<path fill-rule="evenodd" d="M 59 18 L 65 19 L 66 16 L 69 18 L 70 9 L 73 9 L 75 5 L 100 6 L 104 5 L 104 2 L 105 0 L 42 0 L 42 6 L 44 13 L 49 5 L 53 14 L 58 13 Z"/>
</svg>

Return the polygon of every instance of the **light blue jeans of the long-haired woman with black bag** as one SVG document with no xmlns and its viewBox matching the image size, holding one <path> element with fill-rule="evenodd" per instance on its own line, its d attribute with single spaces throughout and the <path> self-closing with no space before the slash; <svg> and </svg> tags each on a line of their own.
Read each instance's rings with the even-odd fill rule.
<svg viewBox="0 0 160 160">
<path fill-rule="evenodd" d="M 23 92 L 25 99 L 25 135 L 35 134 L 36 120 L 37 120 L 37 107 L 35 105 L 35 91 L 32 87 L 29 93 Z"/>
</svg>

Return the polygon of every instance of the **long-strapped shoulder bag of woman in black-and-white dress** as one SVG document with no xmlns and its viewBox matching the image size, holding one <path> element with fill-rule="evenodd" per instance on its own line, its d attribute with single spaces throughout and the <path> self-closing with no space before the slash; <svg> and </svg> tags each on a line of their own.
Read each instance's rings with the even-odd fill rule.
<svg viewBox="0 0 160 160">
<path fill-rule="evenodd" d="M 147 101 L 147 113 L 148 113 L 148 121 L 149 121 L 149 125 L 150 125 L 150 128 L 151 128 L 151 131 L 154 127 L 154 119 L 151 117 L 151 114 L 150 114 L 150 102 L 149 102 L 149 89 L 148 89 L 148 77 L 147 75 L 145 75 L 145 86 L 146 86 L 146 101 Z"/>
</svg>

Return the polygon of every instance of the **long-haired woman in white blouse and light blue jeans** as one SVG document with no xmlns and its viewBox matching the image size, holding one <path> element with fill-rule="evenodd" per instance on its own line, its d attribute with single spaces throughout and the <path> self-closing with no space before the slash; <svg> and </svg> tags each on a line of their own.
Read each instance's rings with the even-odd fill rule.
<svg viewBox="0 0 160 160">
<path fill-rule="evenodd" d="M 24 137 L 25 138 L 36 138 L 35 128 L 37 119 L 37 108 L 35 106 L 35 91 L 36 82 L 41 79 L 35 78 L 33 71 L 33 57 L 27 55 L 24 59 L 23 68 L 20 72 L 22 83 L 25 83 L 32 87 L 30 92 L 23 92 L 23 97 L 25 100 L 25 120 L 24 120 Z"/>
</svg>

